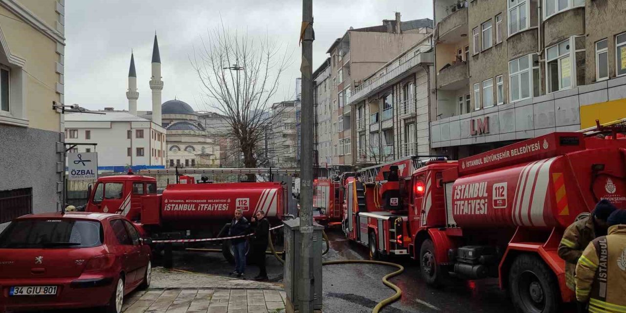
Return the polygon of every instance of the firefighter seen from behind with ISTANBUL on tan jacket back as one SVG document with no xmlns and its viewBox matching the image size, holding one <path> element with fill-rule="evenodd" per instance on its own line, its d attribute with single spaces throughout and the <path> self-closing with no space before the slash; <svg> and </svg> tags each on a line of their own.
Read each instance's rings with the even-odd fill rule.
<svg viewBox="0 0 626 313">
<path fill-rule="evenodd" d="M 608 235 L 594 239 L 576 265 L 576 299 L 589 312 L 626 312 L 626 210 L 608 217 Z"/>
</svg>

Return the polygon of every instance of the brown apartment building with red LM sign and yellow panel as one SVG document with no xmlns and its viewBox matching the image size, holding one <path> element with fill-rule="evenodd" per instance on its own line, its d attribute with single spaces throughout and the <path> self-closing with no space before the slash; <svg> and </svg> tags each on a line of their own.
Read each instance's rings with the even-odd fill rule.
<svg viewBox="0 0 626 313">
<path fill-rule="evenodd" d="M 438 153 L 462 158 L 626 117 L 626 1 L 433 4 Z"/>
</svg>

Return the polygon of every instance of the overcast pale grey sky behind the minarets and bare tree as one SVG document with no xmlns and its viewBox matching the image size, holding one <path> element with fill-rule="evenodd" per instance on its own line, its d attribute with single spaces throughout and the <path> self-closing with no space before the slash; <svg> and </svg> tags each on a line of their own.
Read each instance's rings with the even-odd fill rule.
<svg viewBox="0 0 626 313">
<path fill-rule="evenodd" d="M 382 19 L 432 18 L 431 0 L 313 0 L 313 70 L 327 58 L 332 42 L 352 26 L 379 25 Z M 162 62 L 163 102 L 177 97 L 195 110 L 207 110 L 189 56 L 220 17 L 228 28 L 265 33 L 293 51 L 292 65 L 280 86 L 292 98 L 300 76 L 299 0 L 66 0 L 65 103 L 98 110 L 128 110 L 128 66 L 135 51 L 138 110 L 151 110 L 150 61 L 154 33 Z"/>
</svg>

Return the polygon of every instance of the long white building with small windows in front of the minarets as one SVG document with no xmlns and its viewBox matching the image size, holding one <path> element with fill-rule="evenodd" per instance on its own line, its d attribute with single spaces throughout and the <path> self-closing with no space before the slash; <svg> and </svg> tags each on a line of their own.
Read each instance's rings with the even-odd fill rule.
<svg viewBox="0 0 626 313">
<path fill-rule="evenodd" d="M 167 158 L 165 129 L 153 121 L 113 108 L 97 113 L 72 113 L 65 116 L 67 143 L 95 143 L 80 145 L 70 153 L 98 153 L 98 169 L 114 167 L 161 167 Z"/>
</svg>

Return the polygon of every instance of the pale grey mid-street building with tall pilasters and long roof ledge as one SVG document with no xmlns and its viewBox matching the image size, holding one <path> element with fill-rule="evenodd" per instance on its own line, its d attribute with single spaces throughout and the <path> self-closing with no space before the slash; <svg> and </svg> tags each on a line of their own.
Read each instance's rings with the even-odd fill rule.
<svg viewBox="0 0 626 313">
<path fill-rule="evenodd" d="M 356 165 L 431 154 L 432 39 L 426 36 L 377 69 L 348 98 L 356 119 Z"/>
</svg>

